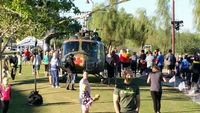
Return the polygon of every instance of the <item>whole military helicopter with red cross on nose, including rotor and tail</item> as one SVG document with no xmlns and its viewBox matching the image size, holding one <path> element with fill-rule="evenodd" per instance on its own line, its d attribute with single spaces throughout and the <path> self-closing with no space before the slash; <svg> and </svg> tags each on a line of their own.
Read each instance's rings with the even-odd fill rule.
<svg viewBox="0 0 200 113">
<path fill-rule="evenodd" d="M 113 5 L 118 5 L 130 0 L 119 0 Z M 82 28 L 88 28 L 87 20 L 95 12 L 105 10 L 111 5 L 106 5 L 103 8 L 95 9 L 93 11 L 82 12 L 82 15 L 72 17 L 72 19 L 84 19 L 84 25 Z M 63 21 L 62 21 L 63 22 Z M 60 22 L 60 24 L 62 24 Z M 49 30 L 44 37 L 44 44 L 46 50 L 49 49 L 49 42 L 53 37 L 62 33 L 55 32 L 54 29 Z M 104 43 L 99 40 L 98 33 L 88 30 L 87 32 L 81 32 L 76 38 L 66 38 L 62 45 L 61 64 L 64 66 L 65 61 L 73 55 L 76 65 L 77 73 L 82 73 L 85 69 L 89 73 L 94 74 L 97 77 L 105 79 L 105 51 Z M 89 38 L 88 38 L 89 37 Z"/>
</svg>

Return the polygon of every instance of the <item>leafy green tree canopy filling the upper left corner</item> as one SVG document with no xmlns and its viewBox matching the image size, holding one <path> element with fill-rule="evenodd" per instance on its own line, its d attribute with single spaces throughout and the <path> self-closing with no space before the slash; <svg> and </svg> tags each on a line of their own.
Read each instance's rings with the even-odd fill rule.
<svg viewBox="0 0 200 113">
<path fill-rule="evenodd" d="M 50 29 L 60 34 L 77 32 L 80 25 L 76 20 L 60 16 L 61 12 L 71 10 L 79 13 L 73 0 L 1 0 L 0 13 L 3 15 L 0 16 L 0 29 L 4 31 L 14 26 L 18 29 L 17 38 L 28 35 L 42 38 Z M 69 27 L 72 25 L 77 27 L 71 30 Z"/>
</svg>

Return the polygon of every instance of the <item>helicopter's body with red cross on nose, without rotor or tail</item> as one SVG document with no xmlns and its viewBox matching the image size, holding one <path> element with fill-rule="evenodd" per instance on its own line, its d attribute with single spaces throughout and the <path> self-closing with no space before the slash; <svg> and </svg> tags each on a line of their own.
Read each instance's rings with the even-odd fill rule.
<svg viewBox="0 0 200 113">
<path fill-rule="evenodd" d="M 97 32 L 87 31 L 82 36 L 72 36 L 63 42 L 61 50 L 63 66 L 73 56 L 77 74 L 87 70 L 103 78 L 100 73 L 105 69 L 105 46 Z"/>
</svg>

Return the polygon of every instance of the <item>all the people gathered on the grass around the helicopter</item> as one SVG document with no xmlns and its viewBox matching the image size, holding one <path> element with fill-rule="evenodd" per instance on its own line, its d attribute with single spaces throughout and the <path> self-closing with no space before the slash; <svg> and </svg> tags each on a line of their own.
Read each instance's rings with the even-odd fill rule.
<svg viewBox="0 0 200 113">
<path fill-rule="evenodd" d="M 39 51 L 29 51 L 25 49 L 22 53 L 14 53 L 12 56 L 5 56 L 4 59 L 4 77 L 3 84 L 0 87 L 2 94 L 2 102 L 4 113 L 7 113 L 11 86 L 8 84 L 8 78 L 15 80 L 17 70 L 19 75 L 22 75 L 22 63 L 24 65 L 32 62 L 32 72 L 39 77 L 40 66 L 44 64 L 45 76 L 48 77 L 49 84 L 52 88 L 60 88 L 59 85 L 59 70 L 63 70 L 67 74 L 66 90 L 75 90 L 76 67 L 74 56 L 70 55 L 65 60 L 65 65 L 61 66 L 59 51 L 46 51 L 43 55 Z M 116 83 L 113 92 L 114 109 L 116 113 L 132 112 L 139 113 L 140 110 L 140 90 L 139 86 L 133 83 L 132 79 L 138 75 L 146 76 L 147 83 L 150 84 L 150 92 L 153 100 L 155 113 L 160 113 L 162 86 L 161 82 L 167 82 L 163 76 L 164 67 L 167 68 L 168 76 L 180 77 L 188 86 L 197 87 L 200 74 L 200 54 L 196 53 L 193 56 L 184 55 L 176 57 L 172 50 L 164 56 L 159 49 L 152 51 L 141 50 L 140 54 L 131 52 L 129 49 L 122 49 L 119 52 L 116 49 L 109 48 L 106 55 L 106 70 L 108 76 L 108 84 L 111 84 L 111 78 L 122 77 L 123 83 Z M 9 67 L 11 67 L 9 75 Z M 91 97 L 90 84 L 87 80 L 88 72 L 83 71 L 83 78 L 79 82 L 80 103 L 83 113 L 88 113 L 91 104 L 98 100 L 99 95 Z M 4 91 L 4 89 L 6 89 Z M 5 95 L 5 97 L 3 97 Z"/>
</svg>

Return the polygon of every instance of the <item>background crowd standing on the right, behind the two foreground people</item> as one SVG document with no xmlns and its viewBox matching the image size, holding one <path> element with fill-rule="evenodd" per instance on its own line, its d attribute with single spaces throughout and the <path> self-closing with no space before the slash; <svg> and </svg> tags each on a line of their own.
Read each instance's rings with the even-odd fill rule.
<svg viewBox="0 0 200 113">
<path fill-rule="evenodd" d="M 152 51 L 141 50 L 140 54 L 131 52 L 129 49 L 122 49 L 119 52 L 116 49 L 109 48 L 106 55 L 108 84 L 110 78 L 121 76 L 121 70 L 130 67 L 131 70 L 140 76 L 149 75 L 152 72 L 152 66 L 156 65 L 163 72 L 167 69 L 167 76 L 176 75 L 187 84 L 190 89 L 196 86 L 199 81 L 200 55 L 177 55 L 177 57 L 169 49 L 166 55 L 163 55 L 159 49 Z"/>
</svg>

